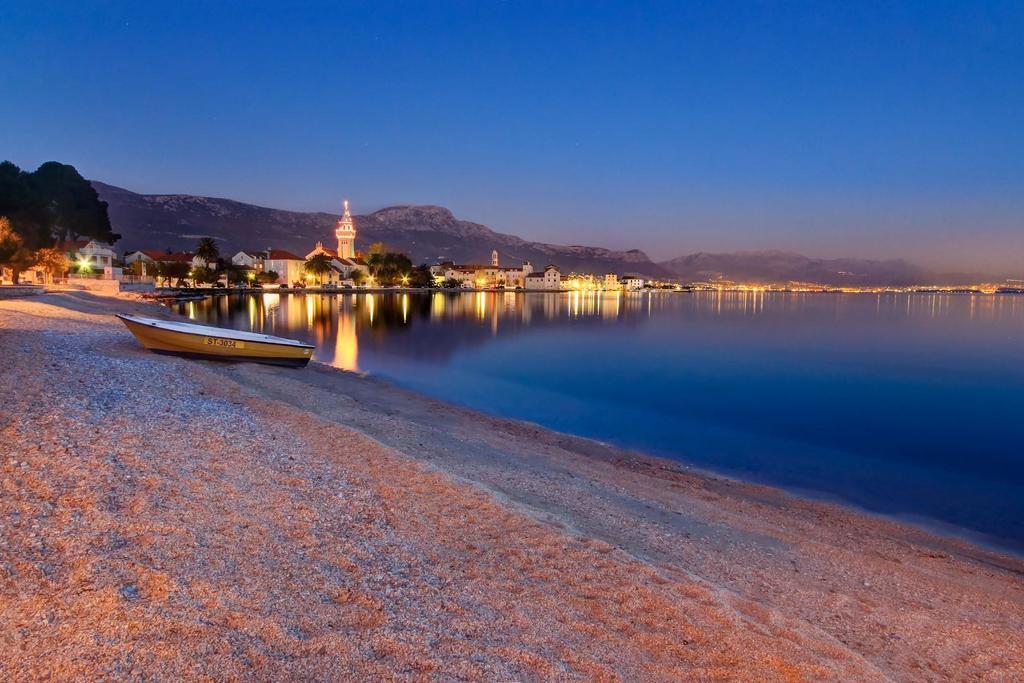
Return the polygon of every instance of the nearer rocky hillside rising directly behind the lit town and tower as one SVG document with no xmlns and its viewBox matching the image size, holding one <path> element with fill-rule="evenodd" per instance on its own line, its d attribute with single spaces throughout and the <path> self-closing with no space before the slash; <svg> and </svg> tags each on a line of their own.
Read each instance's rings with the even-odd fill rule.
<svg viewBox="0 0 1024 683">
<path fill-rule="evenodd" d="M 275 247 L 307 253 L 317 240 L 334 242 L 338 215 L 281 211 L 232 200 L 191 195 L 139 195 L 92 181 L 100 199 L 110 204 L 114 229 L 123 237 L 120 250 L 188 249 L 201 237 L 217 239 L 221 251 Z M 400 206 L 355 216 L 356 248 L 383 242 L 412 256 L 413 261 L 443 260 L 485 263 L 492 250 L 502 262 L 523 260 L 536 266 L 556 263 L 563 270 L 671 274 L 638 250 L 611 251 L 599 247 L 550 245 L 503 234 L 486 225 L 461 220 L 443 207 Z"/>
</svg>

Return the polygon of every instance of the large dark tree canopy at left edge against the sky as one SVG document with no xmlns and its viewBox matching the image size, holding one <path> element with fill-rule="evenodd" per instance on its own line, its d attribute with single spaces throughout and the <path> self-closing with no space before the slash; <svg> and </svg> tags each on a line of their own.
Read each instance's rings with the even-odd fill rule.
<svg viewBox="0 0 1024 683">
<path fill-rule="evenodd" d="M 49 247 L 54 240 L 88 238 L 113 243 L 106 202 L 74 166 L 46 162 L 34 172 L 0 164 L 0 216 L 10 219 L 25 248 Z"/>
</svg>

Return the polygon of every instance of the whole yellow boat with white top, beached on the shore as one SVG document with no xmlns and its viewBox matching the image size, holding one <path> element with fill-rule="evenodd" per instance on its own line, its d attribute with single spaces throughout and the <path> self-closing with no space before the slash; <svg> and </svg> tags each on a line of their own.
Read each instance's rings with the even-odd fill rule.
<svg viewBox="0 0 1024 683">
<path fill-rule="evenodd" d="M 315 348 L 295 339 L 271 337 L 257 332 L 120 313 L 118 317 L 135 335 L 135 339 L 142 342 L 142 346 L 157 353 L 301 368 L 309 362 Z"/>
</svg>

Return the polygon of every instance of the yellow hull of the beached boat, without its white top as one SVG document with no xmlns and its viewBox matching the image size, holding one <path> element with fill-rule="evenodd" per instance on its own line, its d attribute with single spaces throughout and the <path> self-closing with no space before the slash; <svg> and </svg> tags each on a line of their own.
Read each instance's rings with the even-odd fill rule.
<svg viewBox="0 0 1024 683">
<path fill-rule="evenodd" d="M 156 353 L 204 360 L 261 362 L 290 368 L 302 368 L 312 356 L 310 346 L 230 339 L 218 336 L 216 328 L 210 328 L 210 334 L 166 330 L 128 317 L 120 315 L 118 317 L 142 346 Z"/>
</svg>

